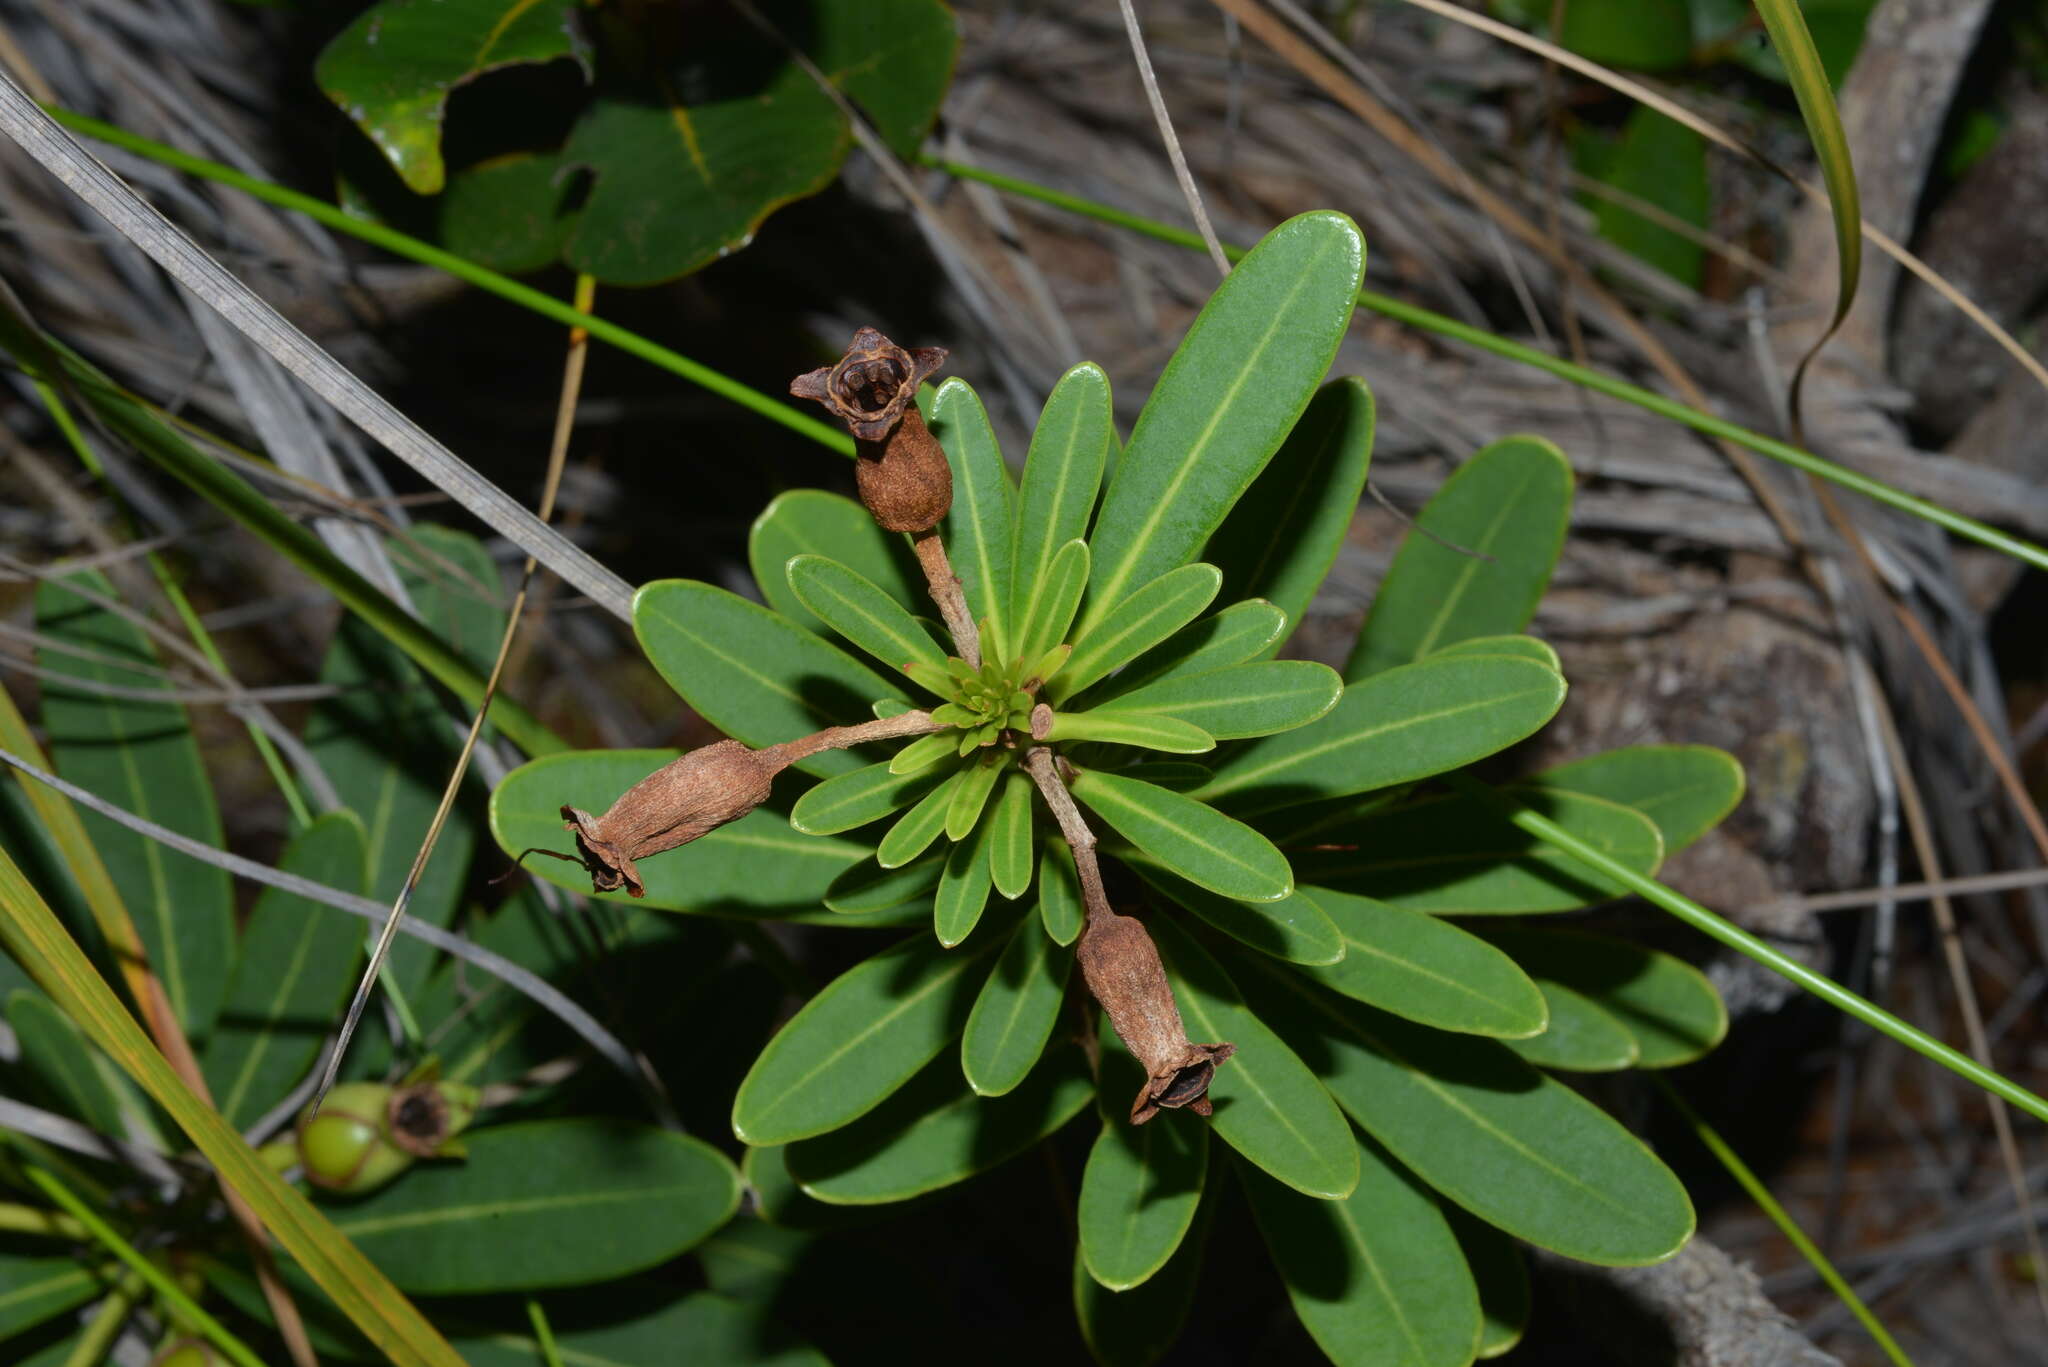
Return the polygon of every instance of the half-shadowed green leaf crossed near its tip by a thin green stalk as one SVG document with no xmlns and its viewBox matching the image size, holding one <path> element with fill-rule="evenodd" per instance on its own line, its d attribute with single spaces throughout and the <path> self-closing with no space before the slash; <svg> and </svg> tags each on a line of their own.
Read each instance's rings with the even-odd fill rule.
<svg viewBox="0 0 2048 1367">
<path fill-rule="evenodd" d="M 1544 789 L 1518 787 L 1516 795 L 1630 869 L 1653 873 L 1663 861 L 1657 826 L 1632 807 Z M 1348 830 L 1346 842 L 1356 851 L 1300 855 L 1303 877 L 1413 912 L 1571 912 L 1626 894 L 1475 797 L 1423 797 L 1374 812 Z"/>
</svg>

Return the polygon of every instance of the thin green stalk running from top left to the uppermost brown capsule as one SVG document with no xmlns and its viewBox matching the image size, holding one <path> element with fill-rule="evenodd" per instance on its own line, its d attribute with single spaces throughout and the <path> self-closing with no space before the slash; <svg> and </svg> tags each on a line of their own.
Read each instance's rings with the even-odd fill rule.
<svg viewBox="0 0 2048 1367">
<path fill-rule="evenodd" d="M 113 143 L 115 148 L 125 148 L 135 156 L 150 158 L 162 166 L 182 170 L 190 176 L 201 176 L 203 180 L 213 180 L 217 184 L 233 187 L 246 195 L 254 195 L 266 205 L 276 205 L 279 209 L 291 209 L 293 213 L 303 213 L 317 223 L 332 227 L 334 232 L 348 234 L 350 238 L 360 238 L 391 252 L 393 256 L 406 256 L 408 260 L 418 260 L 420 264 L 434 266 L 436 271 L 446 271 L 449 275 L 475 285 L 500 299 L 510 299 L 524 309 L 541 314 L 543 318 L 553 318 L 559 324 L 571 328 L 586 328 L 590 336 L 618 350 L 639 357 L 649 365 L 657 365 L 672 375 L 688 379 L 692 385 L 709 389 L 723 400 L 731 400 L 741 408 L 768 418 L 770 422 L 780 422 L 782 426 L 809 437 L 821 447 L 831 447 L 840 455 L 854 455 L 854 439 L 844 430 L 831 428 L 817 418 L 797 410 L 791 404 L 768 398 L 758 389 L 750 389 L 731 375 L 723 375 L 700 361 L 692 361 L 682 353 L 670 350 L 659 342 L 651 342 L 637 332 L 629 332 L 614 322 L 606 322 L 594 314 L 575 309 L 561 299 L 553 299 L 530 285 L 520 285 L 518 281 L 487 271 L 485 266 L 465 260 L 455 252 L 444 252 L 430 242 L 420 242 L 408 234 L 385 227 L 383 223 L 369 223 L 365 219 L 350 217 L 334 205 L 313 199 L 311 195 L 299 195 L 297 191 L 287 191 L 281 184 L 262 180 L 258 176 L 244 174 L 233 166 L 221 166 L 219 162 L 209 162 L 205 158 L 178 152 L 160 141 L 147 137 L 137 137 L 127 129 L 115 127 L 113 123 L 100 123 L 98 119 L 88 119 L 86 115 L 72 113 L 70 109 L 59 109 L 49 105 L 49 117 L 72 129 L 74 133 L 84 133 L 86 137 Z M 469 699 L 475 701 L 475 699 Z"/>
</svg>

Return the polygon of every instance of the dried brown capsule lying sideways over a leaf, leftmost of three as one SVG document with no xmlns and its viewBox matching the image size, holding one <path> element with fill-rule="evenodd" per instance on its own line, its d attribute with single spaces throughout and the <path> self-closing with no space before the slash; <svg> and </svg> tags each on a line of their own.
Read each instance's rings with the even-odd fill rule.
<svg viewBox="0 0 2048 1367">
<path fill-rule="evenodd" d="M 563 807 L 563 826 L 575 832 L 575 853 L 590 869 L 592 889 L 625 887 L 635 898 L 647 896 L 633 861 L 737 822 L 768 799 L 786 762 L 737 740 L 721 740 L 655 769 L 621 793 L 604 816 Z"/>
</svg>

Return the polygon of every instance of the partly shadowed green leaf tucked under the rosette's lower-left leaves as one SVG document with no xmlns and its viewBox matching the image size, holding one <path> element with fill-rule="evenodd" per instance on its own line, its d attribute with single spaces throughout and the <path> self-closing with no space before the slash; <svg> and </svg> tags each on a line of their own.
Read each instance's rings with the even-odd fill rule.
<svg viewBox="0 0 2048 1367">
<path fill-rule="evenodd" d="M 872 1115 L 791 1144 L 791 1176 L 829 1205 L 907 1201 L 987 1172 L 1071 1121 L 1094 1096 L 1075 1049 L 1063 1049 L 1004 1096 L 975 1096 L 950 1060 L 926 1068 Z"/>
</svg>

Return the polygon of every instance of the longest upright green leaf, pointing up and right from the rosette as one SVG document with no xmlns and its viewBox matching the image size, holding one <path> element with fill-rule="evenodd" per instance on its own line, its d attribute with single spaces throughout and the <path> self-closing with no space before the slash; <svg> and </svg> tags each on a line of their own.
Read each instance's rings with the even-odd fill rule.
<svg viewBox="0 0 2048 1367">
<path fill-rule="evenodd" d="M 1090 539 L 1085 629 L 1194 560 L 1323 381 L 1366 244 L 1341 213 L 1274 227 L 1202 305 L 1145 402 Z"/>
</svg>

